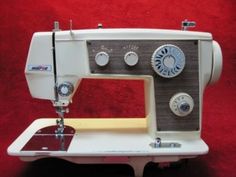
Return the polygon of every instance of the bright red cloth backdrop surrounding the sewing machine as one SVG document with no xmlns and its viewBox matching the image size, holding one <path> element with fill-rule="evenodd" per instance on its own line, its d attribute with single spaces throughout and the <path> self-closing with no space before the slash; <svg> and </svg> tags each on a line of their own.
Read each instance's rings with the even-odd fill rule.
<svg viewBox="0 0 236 177">
<path fill-rule="evenodd" d="M 61 22 L 62 29 L 68 29 L 69 19 L 73 19 L 73 27 L 76 29 L 95 28 L 97 23 L 103 23 L 105 28 L 179 29 L 180 22 L 185 18 L 197 22 L 197 27 L 194 30 L 211 32 L 223 50 L 222 77 L 215 86 L 206 89 L 204 97 L 202 137 L 209 145 L 210 152 L 205 156 L 191 160 L 187 166 L 179 169 L 158 170 L 150 165 L 145 175 L 236 176 L 235 9 L 236 2 L 234 0 L 1 1 L 0 176 L 122 176 L 121 172 L 130 171 L 129 168 L 122 166 L 78 166 L 55 159 L 25 163 L 6 154 L 10 143 L 34 119 L 56 116 L 51 103 L 32 99 L 26 85 L 23 71 L 29 43 L 34 32 L 50 31 L 54 20 Z M 132 88 L 130 84 L 118 84 L 118 89 L 112 84 L 104 84 L 101 84 L 100 88 L 105 89 L 114 104 L 117 100 L 114 101 L 112 98 L 117 95 L 116 93 Z M 115 89 L 114 92 L 113 89 Z M 90 85 L 85 83 L 83 92 L 90 93 L 92 90 Z M 136 98 L 137 101 L 143 99 L 142 94 L 139 96 Z M 109 98 L 107 102 L 109 102 Z M 101 99 L 103 97 L 100 96 L 94 98 L 94 101 L 102 103 Z M 137 111 L 132 104 L 127 104 L 129 105 L 127 111 L 123 110 L 126 107 L 125 103 L 129 101 L 126 94 L 119 94 L 119 99 L 120 102 L 124 103 L 123 107 L 122 105 L 120 107 L 122 109 L 121 114 Z M 86 102 L 82 104 L 86 104 Z M 100 112 L 101 115 L 108 116 L 114 113 L 107 110 L 104 105 L 97 105 L 97 110 L 104 111 Z M 142 105 L 139 106 L 142 107 Z M 111 110 L 113 108 L 111 107 Z M 72 106 L 72 110 L 74 115 L 91 113 L 88 109 L 76 110 L 76 106 Z M 115 112 L 120 111 L 115 109 Z M 110 173 L 110 171 L 112 172 Z M 125 175 L 130 174 L 123 176 Z"/>
</svg>

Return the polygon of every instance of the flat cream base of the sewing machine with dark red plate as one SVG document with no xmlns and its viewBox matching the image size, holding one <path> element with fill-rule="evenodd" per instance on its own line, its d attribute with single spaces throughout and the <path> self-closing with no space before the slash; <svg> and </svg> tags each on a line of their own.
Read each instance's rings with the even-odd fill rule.
<svg viewBox="0 0 236 177">
<path fill-rule="evenodd" d="M 159 148 L 152 145 L 155 139 L 143 129 L 74 130 L 68 121 L 62 141 L 54 133 L 55 124 L 56 119 L 35 120 L 9 146 L 8 154 L 24 161 L 57 157 L 78 164 L 129 164 L 136 176 L 142 176 L 148 162 L 175 162 L 208 152 L 200 138 L 162 139 L 165 144 L 180 146 Z"/>
</svg>

